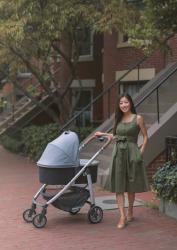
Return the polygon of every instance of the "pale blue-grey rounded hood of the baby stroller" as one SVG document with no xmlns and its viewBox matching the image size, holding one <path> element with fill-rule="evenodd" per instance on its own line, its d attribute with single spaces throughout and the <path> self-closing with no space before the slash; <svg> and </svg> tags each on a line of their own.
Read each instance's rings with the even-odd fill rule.
<svg viewBox="0 0 177 250">
<path fill-rule="evenodd" d="M 79 166 L 79 139 L 75 132 L 65 131 L 54 141 L 48 143 L 38 166 L 61 168 Z"/>
</svg>

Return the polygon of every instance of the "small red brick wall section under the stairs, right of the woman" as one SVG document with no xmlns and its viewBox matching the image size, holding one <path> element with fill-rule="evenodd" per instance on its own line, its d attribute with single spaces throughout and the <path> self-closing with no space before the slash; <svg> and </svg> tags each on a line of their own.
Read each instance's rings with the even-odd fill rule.
<svg viewBox="0 0 177 250">
<path fill-rule="evenodd" d="M 155 174 L 158 167 L 162 166 L 166 161 L 165 151 L 158 155 L 147 167 L 148 180 L 152 182 L 152 176 Z"/>
</svg>

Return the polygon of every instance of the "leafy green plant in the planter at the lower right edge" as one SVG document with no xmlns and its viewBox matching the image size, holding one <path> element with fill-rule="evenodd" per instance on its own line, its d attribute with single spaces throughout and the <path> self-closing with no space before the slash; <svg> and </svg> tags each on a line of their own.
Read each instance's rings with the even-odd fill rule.
<svg viewBox="0 0 177 250">
<path fill-rule="evenodd" d="M 165 163 L 153 176 L 157 197 L 177 203 L 177 164 Z"/>
</svg>

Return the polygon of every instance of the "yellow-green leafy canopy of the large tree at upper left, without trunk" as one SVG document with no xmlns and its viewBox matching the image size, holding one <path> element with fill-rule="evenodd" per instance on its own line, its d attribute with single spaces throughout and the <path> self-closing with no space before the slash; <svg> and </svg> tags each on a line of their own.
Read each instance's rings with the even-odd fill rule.
<svg viewBox="0 0 177 250">
<path fill-rule="evenodd" d="M 134 6 L 122 0 L 0 0 L 0 14 L 1 60 L 11 63 L 11 71 L 24 64 L 22 55 L 48 63 L 52 43 L 66 34 L 73 40 L 79 28 L 123 30 L 137 18 Z"/>
</svg>

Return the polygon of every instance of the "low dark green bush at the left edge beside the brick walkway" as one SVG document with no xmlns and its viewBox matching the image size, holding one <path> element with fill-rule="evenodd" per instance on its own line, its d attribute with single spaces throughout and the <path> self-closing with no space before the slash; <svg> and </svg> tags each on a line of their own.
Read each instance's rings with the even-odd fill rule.
<svg viewBox="0 0 177 250">
<path fill-rule="evenodd" d="M 13 153 L 20 153 L 23 150 L 23 142 L 19 138 L 12 138 L 4 135 L 0 140 L 1 144 Z"/>
</svg>

